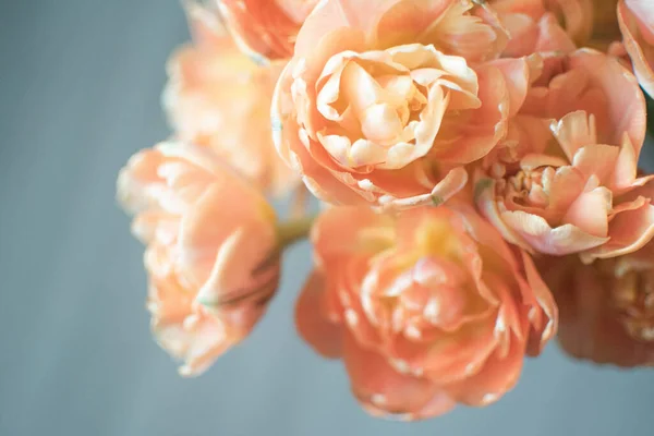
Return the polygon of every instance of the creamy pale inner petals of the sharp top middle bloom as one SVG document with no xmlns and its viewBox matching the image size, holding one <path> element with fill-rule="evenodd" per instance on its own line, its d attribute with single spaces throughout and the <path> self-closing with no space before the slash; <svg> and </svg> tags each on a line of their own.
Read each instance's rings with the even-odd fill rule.
<svg viewBox="0 0 654 436">
<path fill-rule="evenodd" d="M 341 166 L 396 170 L 435 144 L 451 146 L 468 110 L 481 106 L 477 90 L 476 74 L 462 58 L 432 46 L 344 51 L 329 59 L 316 82 L 324 120 L 312 124 Z"/>
</svg>

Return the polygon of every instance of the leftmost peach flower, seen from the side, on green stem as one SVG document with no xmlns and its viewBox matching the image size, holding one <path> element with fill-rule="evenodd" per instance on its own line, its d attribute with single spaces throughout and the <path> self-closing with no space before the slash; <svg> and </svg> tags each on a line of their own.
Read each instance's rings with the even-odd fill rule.
<svg viewBox="0 0 654 436">
<path fill-rule="evenodd" d="M 159 144 L 130 159 L 118 198 L 146 243 L 158 343 L 198 375 L 245 338 L 277 289 L 275 211 L 208 149 Z"/>
</svg>

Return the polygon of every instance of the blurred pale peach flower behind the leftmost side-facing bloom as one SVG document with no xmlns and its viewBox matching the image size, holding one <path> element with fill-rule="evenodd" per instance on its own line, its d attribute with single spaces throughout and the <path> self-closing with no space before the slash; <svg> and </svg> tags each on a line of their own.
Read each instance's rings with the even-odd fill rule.
<svg viewBox="0 0 654 436">
<path fill-rule="evenodd" d="M 272 144 L 270 100 L 283 62 L 266 66 L 243 55 L 217 12 L 186 3 L 193 45 L 169 63 L 164 104 L 177 136 L 210 147 L 266 192 L 288 193 L 299 177 Z"/>
</svg>

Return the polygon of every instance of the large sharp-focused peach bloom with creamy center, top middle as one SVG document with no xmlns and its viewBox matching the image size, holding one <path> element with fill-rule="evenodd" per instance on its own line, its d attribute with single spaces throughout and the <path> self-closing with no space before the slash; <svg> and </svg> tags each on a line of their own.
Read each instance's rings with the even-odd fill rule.
<svg viewBox="0 0 654 436">
<path fill-rule="evenodd" d="M 276 88 L 277 148 L 327 202 L 440 204 L 506 134 L 537 75 L 537 58 L 494 61 L 504 43 L 471 0 L 323 1 Z"/>
</svg>

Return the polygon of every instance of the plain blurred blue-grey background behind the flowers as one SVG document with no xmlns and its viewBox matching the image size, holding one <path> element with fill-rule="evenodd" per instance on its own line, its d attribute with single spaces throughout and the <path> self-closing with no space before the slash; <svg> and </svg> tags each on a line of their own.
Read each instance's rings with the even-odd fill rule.
<svg viewBox="0 0 654 436">
<path fill-rule="evenodd" d="M 0 1 L 0 435 L 653 434 L 654 371 L 555 343 L 496 405 L 368 417 L 294 332 L 306 244 L 254 335 L 180 378 L 150 339 L 143 247 L 113 198 L 130 155 L 169 133 L 165 62 L 187 38 L 177 0 Z"/>
</svg>

